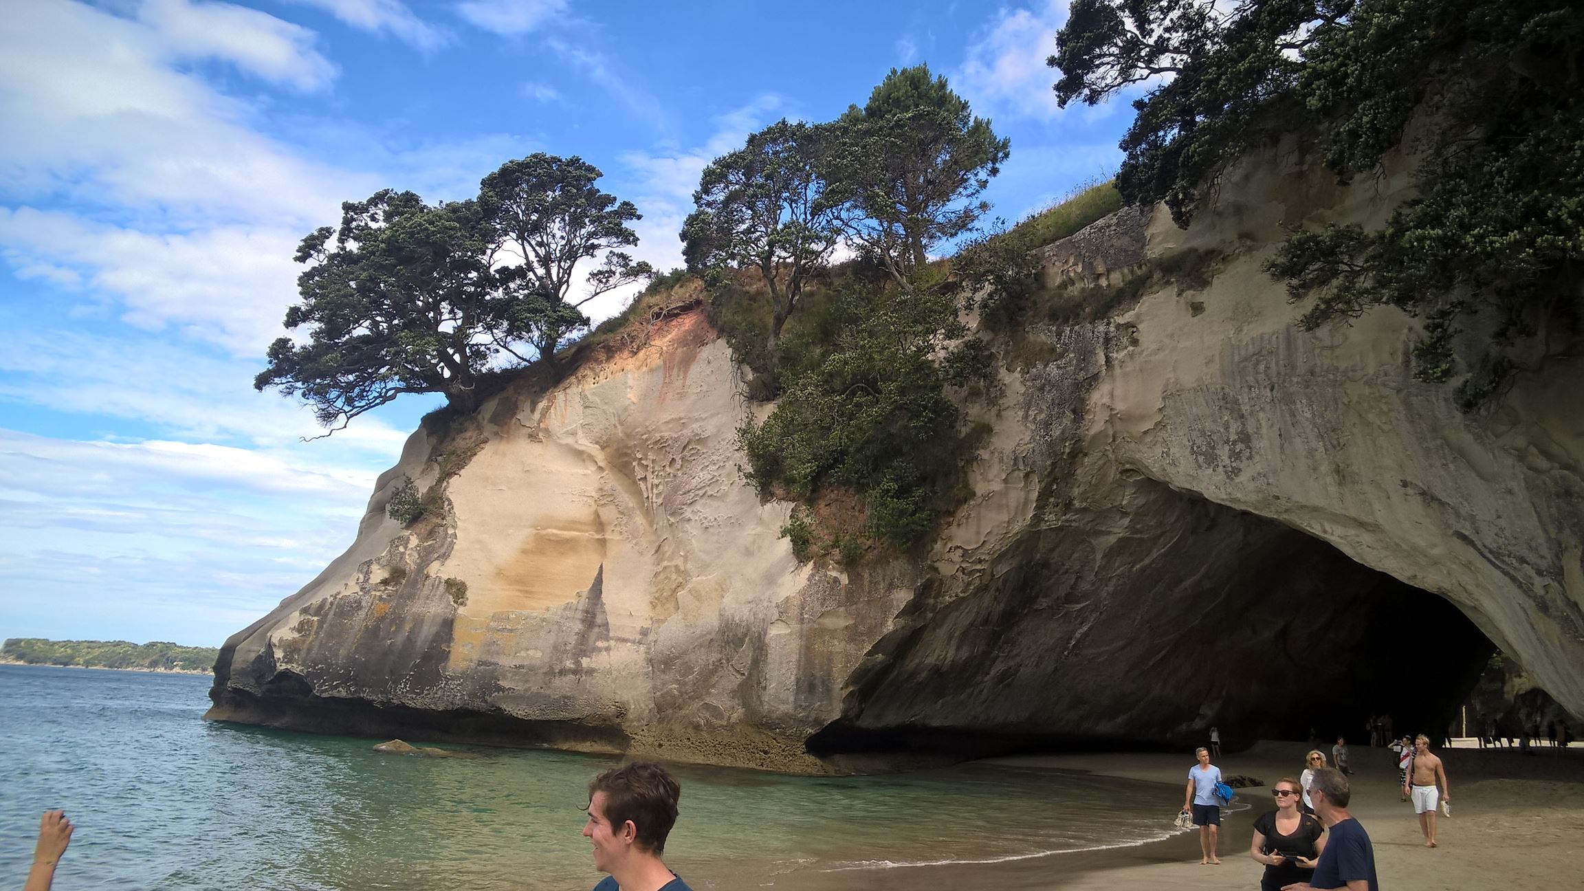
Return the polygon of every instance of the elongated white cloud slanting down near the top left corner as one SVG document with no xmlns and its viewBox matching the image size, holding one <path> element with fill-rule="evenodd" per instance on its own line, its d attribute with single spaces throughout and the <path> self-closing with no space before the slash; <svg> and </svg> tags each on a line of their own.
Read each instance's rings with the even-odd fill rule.
<svg viewBox="0 0 1584 891">
<path fill-rule="evenodd" d="M 219 59 L 303 90 L 329 84 L 336 67 L 314 49 L 314 32 L 231 3 L 144 0 L 138 21 L 181 59 Z"/>
</svg>

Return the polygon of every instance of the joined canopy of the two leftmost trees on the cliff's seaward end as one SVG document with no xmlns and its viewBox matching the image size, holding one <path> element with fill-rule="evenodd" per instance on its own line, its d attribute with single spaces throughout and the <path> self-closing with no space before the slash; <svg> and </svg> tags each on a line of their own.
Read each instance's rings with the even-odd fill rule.
<svg viewBox="0 0 1584 891">
<path fill-rule="evenodd" d="M 535 154 L 502 165 L 467 201 L 431 206 L 385 189 L 344 203 L 339 227 L 298 247 L 307 268 L 285 327 L 307 336 L 276 339 L 253 385 L 299 396 L 339 430 L 402 393 L 470 406 L 502 355 L 553 363 L 588 325 L 583 303 L 649 273 L 615 250 L 637 243 L 626 224 L 638 212 L 600 192 L 599 176 L 580 159 Z M 578 263 L 596 257 L 589 293 L 572 300 Z"/>
</svg>

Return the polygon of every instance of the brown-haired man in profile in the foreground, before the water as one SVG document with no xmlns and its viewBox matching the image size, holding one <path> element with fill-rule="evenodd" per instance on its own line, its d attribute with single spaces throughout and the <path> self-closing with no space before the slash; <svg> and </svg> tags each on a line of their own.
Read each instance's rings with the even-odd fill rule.
<svg viewBox="0 0 1584 891">
<path fill-rule="evenodd" d="M 691 891 L 661 861 L 681 796 L 676 780 L 653 761 L 611 767 L 589 780 L 583 837 L 594 842 L 594 869 L 610 874 L 594 891 Z"/>
</svg>

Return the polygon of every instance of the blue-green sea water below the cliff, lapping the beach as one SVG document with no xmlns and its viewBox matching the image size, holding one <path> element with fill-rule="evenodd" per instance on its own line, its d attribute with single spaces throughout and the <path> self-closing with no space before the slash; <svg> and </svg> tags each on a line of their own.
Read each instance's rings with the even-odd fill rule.
<svg viewBox="0 0 1584 891">
<path fill-rule="evenodd" d="M 208 688 L 200 675 L 0 666 L 0 886 L 22 885 L 49 807 L 78 824 L 62 891 L 586 891 L 599 880 L 580 807 L 613 759 L 379 755 L 367 739 L 203 721 Z M 1159 839 L 1177 794 L 988 764 L 676 774 L 681 820 L 665 859 L 697 889 L 909 886 L 954 867 L 984 877 Z"/>
</svg>

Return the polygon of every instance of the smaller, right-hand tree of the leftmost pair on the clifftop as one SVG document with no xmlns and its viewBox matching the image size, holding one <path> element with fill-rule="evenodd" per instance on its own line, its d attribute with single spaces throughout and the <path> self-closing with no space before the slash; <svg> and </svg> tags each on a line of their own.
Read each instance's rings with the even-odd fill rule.
<svg viewBox="0 0 1584 891">
<path fill-rule="evenodd" d="M 642 219 L 638 209 L 602 192 L 594 184 L 599 178 L 599 168 L 580 157 L 535 152 L 501 165 L 480 184 L 478 206 L 494 238 L 501 281 L 491 300 L 499 322 L 494 342 L 524 361 L 515 342 L 532 344 L 554 365 L 562 338 L 588 325 L 583 304 L 653 274 L 648 263 L 618 250 L 638 243 L 627 227 Z M 600 255 L 586 290 L 573 298 L 578 263 Z"/>
</svg>

